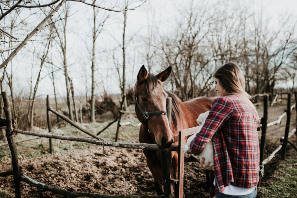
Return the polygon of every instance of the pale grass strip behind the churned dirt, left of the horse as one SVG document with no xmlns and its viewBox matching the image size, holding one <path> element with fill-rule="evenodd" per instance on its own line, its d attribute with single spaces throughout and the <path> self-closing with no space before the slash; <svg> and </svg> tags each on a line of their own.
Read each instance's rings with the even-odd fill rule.
<svg viewBox="0 0 297 198">
<path fill-rule="evenodd" d="M 92 132 L 93 134 L 97 134 L 100 130 L 105 128 L 110 121 L 106 122 L 95 122 L 95 123 L 83 123 L 78 124 L 83 129 Z M 139 123 L 136 117 L 129 117 L 121 119 L 121 122 L 130 122 L 133 125 L 137 125 Z M 115 132 L 116 132 L 117 122 L 108 127 L 105 131 L 99 134 L 99 137 L 103 138 L 107 141 L 115 141 Z M 124 125 L 119 130 L 118 141 L 120 142 L 137 142 L 138 141 L 138 132 L 140 126 L 132 126 L 132 125 Z M 39 131 L 38 131 L 39 132 Z M 41 133 L 47 133 L 47 130 L 40 130 Z M 90 137 L 88 134 L 76 129 L 71 125 L 66 125 L 61 128 L 52 128 L 53 134 L 63 135 L 63 136 L 74 136 L 74 137 Z M 31 136 L 17 134 L 15 140 L 28 139 Z M 75 142 L 75 141 L 64 141 L 52 139 L 53 143 L 53 151 L 55 153 L 69 152 L 73 150 L 87 149 L 91 147 L 97 147 L 97 145 L 92 145 L 83 142 Z M 34 158 L 43 155 L 49 154 L 49 139 L 48 138 L 40 138 L 28 142 L 22 142 L 16 144 L 16 149 L 18 152 L 18 159 L 24 158 Z M 8 146 L 0 147 L 0 163 L 1 161 L 11 160 L 11 153 Z"/>
</svg>

